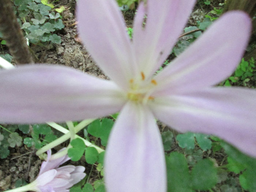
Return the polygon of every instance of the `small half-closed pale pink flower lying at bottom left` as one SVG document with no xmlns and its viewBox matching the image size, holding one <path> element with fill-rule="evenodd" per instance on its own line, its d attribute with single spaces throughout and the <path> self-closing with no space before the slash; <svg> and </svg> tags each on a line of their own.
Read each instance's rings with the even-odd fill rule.
<svg viewBox="0 0 256 192">
<path fill-rule="evenodd" d="M 48 150 L 47 154 L 47 160 L 42 162 L 38 177 L 33 182 L 8 192 L 68 192 L 68 188 L 86 176 L 83 166 L 65 165 L 59 167 L 70 159 L 68 155 L 50 160 L 51 150 Z"/>
</svg>

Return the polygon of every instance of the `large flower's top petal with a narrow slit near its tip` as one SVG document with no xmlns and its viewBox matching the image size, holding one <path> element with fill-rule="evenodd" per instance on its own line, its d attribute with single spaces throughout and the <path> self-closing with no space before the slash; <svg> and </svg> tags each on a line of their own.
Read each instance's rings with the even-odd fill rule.
<svg viewBox="0 0 256 192">
<path fill-rule="evenodd" d="M 148 0 L 146 8 L 140 4 L 134 21 L 133 44 L 136 62 L 146 78 L 151 78 L 172 52 L 194 3 L 195 0 Z M 147 18 L 142 27 L 144 12 Z"/>
</svg>

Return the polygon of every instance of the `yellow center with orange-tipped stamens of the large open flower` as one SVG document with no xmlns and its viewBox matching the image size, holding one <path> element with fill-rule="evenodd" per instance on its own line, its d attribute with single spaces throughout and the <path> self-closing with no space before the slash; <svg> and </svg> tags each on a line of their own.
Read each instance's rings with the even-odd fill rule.
<svg viewBox="0 0 256 192">
<path fill-rule="evenodd" d="M 150 82 L 145 82 L 145 75 L 140 72 L 141 78 L 135 82 L 134 79 L 129 80 L 130 90 L 127 93 L 129 100 L 139 103 L 146 103 L 148 100 L 154 100 L 154 97 L 150 95 L 150 90 L 157 85 L 155 79 L 151 79 Z"/>
</svg>

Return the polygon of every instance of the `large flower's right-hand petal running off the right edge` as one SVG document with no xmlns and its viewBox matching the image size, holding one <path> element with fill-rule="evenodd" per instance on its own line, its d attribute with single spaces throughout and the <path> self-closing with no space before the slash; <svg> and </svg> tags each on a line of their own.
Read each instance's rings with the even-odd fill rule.
<svg viewBox="0 0 256 192">
<path fill-rule="evenodd" d="M 213 87 L 155 98 L 151 109 L 177 131 L 217 135 L 256 157 L 256 90 Z"/>
</svg>

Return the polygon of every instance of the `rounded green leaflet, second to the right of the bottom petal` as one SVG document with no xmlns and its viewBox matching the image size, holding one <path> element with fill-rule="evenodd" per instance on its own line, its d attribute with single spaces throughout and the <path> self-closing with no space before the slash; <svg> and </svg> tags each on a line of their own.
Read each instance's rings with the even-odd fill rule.
<svg viewBox="0 0 256 192">
<path fill-rule="evenodd" d="M 208 190 L 217 184 L 217 169 L 209 159 L 202 159 L 192 168 L 192 185 L 196 190 Z"/>
</svg>

